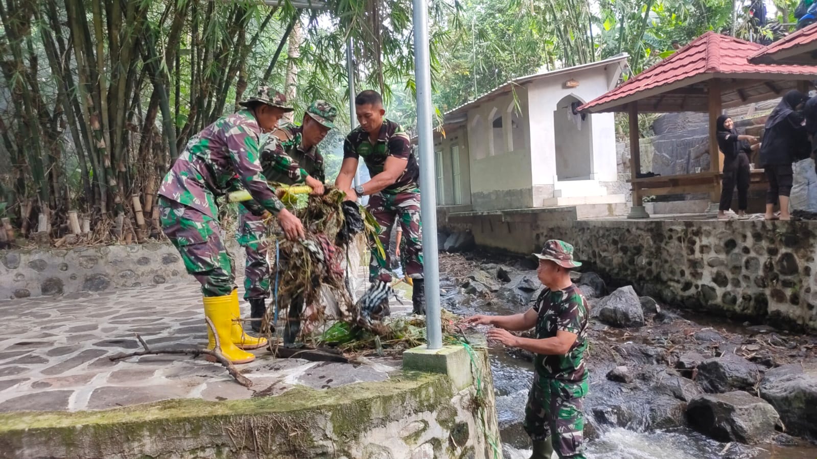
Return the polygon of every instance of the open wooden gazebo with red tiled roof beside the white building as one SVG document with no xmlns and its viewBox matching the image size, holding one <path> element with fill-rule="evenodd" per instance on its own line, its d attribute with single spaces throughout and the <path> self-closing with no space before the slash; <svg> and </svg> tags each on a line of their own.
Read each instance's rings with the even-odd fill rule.
<svg viewBox="0 0 817 459">
<path fill-rule="evenodd" d="M 589 113 L 629 114 L 632 209 L 629 218 L 645 218 L 641 198 L 654 194 L 721 194 L 722 154 L 717 152 L 716 120 L 722 110 L 783 96 L 790 89 L 805 90 L 817 67 L 752 64 L 749 57 L 762 45 L 708 32 L 672 56 L 630 78 L 613 91 L 579 107 Z M 641 172 L 639 113 L 708 112 L 710 167 L 707 172 L 638 178 Z M 765 180 L 752 171 L 752 182 Z M 712 207 L 712 205 L 711 205 Z"/>
</svg>

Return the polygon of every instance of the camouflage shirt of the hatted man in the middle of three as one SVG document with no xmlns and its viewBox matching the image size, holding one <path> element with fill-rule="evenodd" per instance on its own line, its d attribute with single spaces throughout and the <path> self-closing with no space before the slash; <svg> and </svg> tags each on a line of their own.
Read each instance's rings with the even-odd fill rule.
<svg viewBox="0 0 817 459">
<path fill-rule="evenodd" d="M 279 140 L 279 149 L 261 149 L 261 167 L 266 180 L 273 183 L 294 185 L 303 183 L 306 176 L 324 181 L 324 157 L 318 145 L 308 150 L 301 148 L 303 128 L 293 123 L 286 123 L 276 129 L 272 135 Z"/>
</svg>

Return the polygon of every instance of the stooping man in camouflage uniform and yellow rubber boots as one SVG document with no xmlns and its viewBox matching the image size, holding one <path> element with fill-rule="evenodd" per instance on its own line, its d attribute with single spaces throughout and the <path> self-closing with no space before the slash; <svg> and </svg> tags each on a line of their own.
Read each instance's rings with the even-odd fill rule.
<svg viewBox="0 0 817 459">
<path fill-rule="evenodd" d="M 266 345 L 248 336 L 240 318 L 233 261 L 221 240 L 216 198 L 247 189 L 246 203 L 257 215 L 278 217 L 288 238 L 302 238 L 303 225 L 275 197 L 258 161 L 258 137 L 272 131 L 284 113 L 292 111 L 286 98 L 269 87 L 241 102 L 245 109 L 219 118 L 188 142 L 158 190 L 162 230 L 181 254 L 185 269 L 202 284 L 204 315 L 208 320 L 208 349 L 217 343 L 233 363 L 255 359 L 247 349 Z"/>
</svg>

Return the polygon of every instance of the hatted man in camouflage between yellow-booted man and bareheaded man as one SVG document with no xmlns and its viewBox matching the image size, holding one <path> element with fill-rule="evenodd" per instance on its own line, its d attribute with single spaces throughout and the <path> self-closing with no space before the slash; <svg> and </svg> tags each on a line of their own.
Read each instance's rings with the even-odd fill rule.
<svg viewBox="0 0 817 459">
<path fill-rule="evenodd" d="M 306 109 L 300 126 L 286 123 L 273 131 L 261 146 L 261 168 L 266 179 L 282 185 L 306 183 L 312 187 L 312 194 L 324 194 L 326 173 L 318 145 L 335 127 L 336 116 L 337 109 L 333 105 L 325 100 L 315 100 Z M 239 207 L 239 244 L 247 252 L 244 299 L 250 303 L 252 319 L 264 316 L 265 301 L 270 296 L 269 247 L 259 242 L 265 237 L 266 226 L 261 218 Z M 302 309 L 303 299 L 293 299 L 289 308 L 289 326 L 284 330 L 284 344 L 292 344 L 297 336 Z M 260 329 L 261 321 L 252 321 L 252 330 L 259 332 Z"/>
</svg>

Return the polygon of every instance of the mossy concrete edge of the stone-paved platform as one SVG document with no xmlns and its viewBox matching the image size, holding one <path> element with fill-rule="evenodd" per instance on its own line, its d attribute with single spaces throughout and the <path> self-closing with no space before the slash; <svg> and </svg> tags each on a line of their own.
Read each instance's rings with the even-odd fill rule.
<svg viewBox="0 0 817 459">
<path fill-rule="evenodd" d="M 96 412 L 3 413 L 0 447 L 13 452 L 39 444 L 49 451 L 105 456 L 120 449 L 140 451 L 145 439 L 167 439 L 163 443 L 186 452 L 207 450 L 202 457 L 230 457 L 236 449 L 254 448 L 253 441 L 262 436 L 275 451 L 296 456 L 317 452 L 318 443 L 329 437 L 339 451 L 361 432 L 399 420 L 401 412 L 434 411 L 449 403 L 449 388 L 443 375 L 400 372 L 385 382 L 329 390 L 297 387 L 275 397 L 174 399 Z M 194 441 L 176 442 L 182 439 Z M 140 452 L 145 459 L 157 453 Z"/>
</svg>

